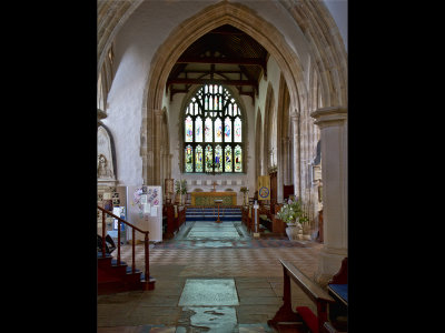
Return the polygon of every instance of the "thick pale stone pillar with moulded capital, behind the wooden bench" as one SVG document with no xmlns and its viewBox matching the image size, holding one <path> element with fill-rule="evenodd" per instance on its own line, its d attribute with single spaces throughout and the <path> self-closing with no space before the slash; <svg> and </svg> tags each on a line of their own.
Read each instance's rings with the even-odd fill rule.
<svg viewBox="0 0 445 333">
<path fill-rule="evenodd" d="M 324 248 L 316 280 L 322 285 L 347 256 L 347 109 L 323 108 L 310 113 L 320 129 Z"/>
</svg>

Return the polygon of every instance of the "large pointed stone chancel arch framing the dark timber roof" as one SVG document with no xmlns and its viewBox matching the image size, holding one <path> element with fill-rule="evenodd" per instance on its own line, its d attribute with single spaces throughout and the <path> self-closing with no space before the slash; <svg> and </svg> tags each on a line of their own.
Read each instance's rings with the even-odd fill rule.
<svg viewBox="0 0 445 333">
<path fill-rule="evenodd" d="M 179 24 L 155 53 L 150 64 L 150 79 L 144 91 L 142 121 L 147 121 L 147 128 L 142 129 L 141 137 L 147 137 L 151 130 L 154 135 L 157 135 L 152 114 L 162 107 L 167 78 L 176 60 L 198 38 L 224 24 L 231 24 L 245 31 L 267 49 L 285 75 L 293 110 L 299 112 L 306 100 L 303 67 L 283 34 L 249 8 L 238 3 L 219 2 Z M 152 158 L 149 159 L 151 165 L 147 165 L 147 174 L 142 175 L 147 183 L 156 181 L 156 169 L 159 168 L 155 164 L 159 160 L 155 152 L 155 141 L 151 140 L 147 147 L 148 151 L 141 151 L 142 161 L 147 161 L 146 157 L 152 152 Z"/>
</svg>

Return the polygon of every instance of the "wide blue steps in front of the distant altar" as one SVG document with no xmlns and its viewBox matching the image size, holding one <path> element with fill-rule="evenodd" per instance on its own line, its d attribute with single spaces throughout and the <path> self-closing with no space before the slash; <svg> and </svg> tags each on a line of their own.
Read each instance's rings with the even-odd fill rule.
<svg viewBox="0 0 445 333">
<path fill-rule="evenodd" d="M 225 221 L 241 221 L 240 208 L 219 208 L 219 220 Z M 215 221 L 218 219 L 218 208 L 199 208 L 187 206 L 186 222 L 188 221 Z"/>
</svg>

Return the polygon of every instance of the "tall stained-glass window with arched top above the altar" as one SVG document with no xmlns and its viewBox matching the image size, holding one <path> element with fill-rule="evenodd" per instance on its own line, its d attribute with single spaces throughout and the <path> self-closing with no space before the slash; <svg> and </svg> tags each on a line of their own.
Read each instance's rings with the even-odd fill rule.
<svg viewBox="0 0 445 333">
<path fill-rule="evenodd" d="M 243 112 L 230 92 L 205 84 L 184 112 L 185 172 L 244 172 Z"/>
</svg>

